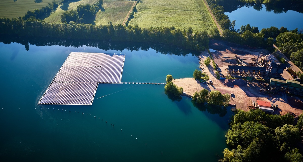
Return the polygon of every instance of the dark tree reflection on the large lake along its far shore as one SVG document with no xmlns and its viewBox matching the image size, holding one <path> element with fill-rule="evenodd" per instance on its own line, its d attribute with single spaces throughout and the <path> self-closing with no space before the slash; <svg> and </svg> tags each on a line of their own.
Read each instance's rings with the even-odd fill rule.
<svg viewBox="0 0 303 162">
<path fill-rule="evenodd" d="M 178 55 L 186 56 L 191 54 L 198 56 L 200 53 L 196 51 L 187 50 L 174 45 L 165 45 L 160 43 L 133 43 L 133 42 L 113 42 L 113 41 L 97 41 L 97 40 L 80 40 L 80 39 L 55 39 L 55 38 L 31 38 L 31 37 L 11 37 L 7 35 L 0 35 L 0 42 L 10 44 L 13 42 L 20 43 L 25 46 L 26 51 L 29 50 L 29 44 L 36 46 L 52 46 L 60 45 L 65 47 L 97 47 L 102 50 L 129 50 L 129 51 L 148 51 L 150 48 L 157 53 L 164 55 Z"/>
</svg>

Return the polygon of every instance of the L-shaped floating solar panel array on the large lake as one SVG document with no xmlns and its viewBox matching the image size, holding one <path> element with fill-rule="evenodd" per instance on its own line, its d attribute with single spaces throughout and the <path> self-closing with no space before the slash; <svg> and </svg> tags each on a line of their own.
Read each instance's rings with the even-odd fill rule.
<svg viewBox="0 0 303 162">
<path fill-rule="evenodd" d="M 99 83 L 121 83 L 125 54 L 71 52 L 38 104 L 92 105 Z"/>
</svg>

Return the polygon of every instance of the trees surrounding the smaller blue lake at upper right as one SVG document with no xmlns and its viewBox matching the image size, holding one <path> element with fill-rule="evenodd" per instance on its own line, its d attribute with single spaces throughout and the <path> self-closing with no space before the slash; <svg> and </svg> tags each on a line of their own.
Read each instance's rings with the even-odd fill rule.
<svg viewBox="0 0 303 162">
<path fill-rule="evenodd" d="M 288 1 L 270 0 L 267 4 L 281 5 Z M 221 28 L 225 29 L 222 33 L 222 40 L 236 43 L 239 45 L 248 45 L 250 47 L 266 48 L 273 51 L 272 45 L 275 44 L 281 52 L 283 52 L 296 66 L 303 69 L 303 30 L 287 30 L 285 27 L 280 29 L 276 27 L 264 28 L 259 31 L 258 27 L 242 25 L 239 29 L 235 29 L 235 21 L 230 21 L 228 16 L 224 14 L 225 8 L 222 5 L 235 5 L 238 8 L 241 5 L 262 4 L 262 0 L 207 0 L 212 13 L 219 21 Z M 291 0 L 290 4 L 302 4 L 302 0 Z M 229 6 L 228 6 L 229 7 Z M 227 20 L 228 19 L 228 20 Z M 228 25 L 229 23 L 229 25 Z M 212 31 L 215 33 L 215 31 Z M 219 39 L 218 36 L 215 36 Z"/>
</svg>

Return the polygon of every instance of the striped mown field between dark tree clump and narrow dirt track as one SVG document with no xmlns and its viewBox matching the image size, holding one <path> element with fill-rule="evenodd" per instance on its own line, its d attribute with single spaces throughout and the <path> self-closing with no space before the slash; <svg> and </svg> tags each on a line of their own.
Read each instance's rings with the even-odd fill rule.
<svg viewBox="0 0 303 162">
<path fill-rule="evenodd" d="M 106 25 L 109 21 L 113 24 L 123 24 L 134 3 L 136 2 L 103 0 L 105 11 L 97 13 L 96 25 Z"/>
</svg>

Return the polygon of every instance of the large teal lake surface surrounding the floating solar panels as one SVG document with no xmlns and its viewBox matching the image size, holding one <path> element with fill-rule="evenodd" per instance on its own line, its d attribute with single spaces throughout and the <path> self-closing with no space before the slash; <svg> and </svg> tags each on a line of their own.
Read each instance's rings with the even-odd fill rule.
<svg viewBox="0 0 303 162">
<path fill-rule="evenodd" d="M 95 99 L 92 106 L 37 105 L 70 52 L 125 53 L 122 82 L 165 82 L 167 74 L 192 77 L 198 68 L 195 56 L 163 55 L 152 49 L 121 52 L 30 45 L 26 51 L 18 43 L 0 43 L 2 159 L 217 161 L 218 155 L 222 157 L 230 111 L 219 117 L 199 111 L 190 98 L 172 101 L 164 94 L 164 85 L 99 84 L 95 98 L 110 95 Z"/>
</svg>

